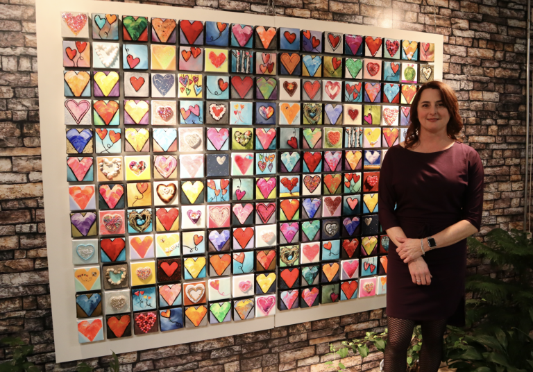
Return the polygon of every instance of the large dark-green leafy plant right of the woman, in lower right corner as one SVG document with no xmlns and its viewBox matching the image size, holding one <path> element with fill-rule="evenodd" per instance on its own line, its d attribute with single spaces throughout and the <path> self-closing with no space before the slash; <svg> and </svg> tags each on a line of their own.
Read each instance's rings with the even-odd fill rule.
<svg viewBox="0 0 533 372">
<path fill-rule="evenodd" d="M 470 253 L 511 278 L 466 278 L 466 328 L 448 327 L 443 361 L 457 372 L 533 372 L 533 242 L 527 233 L 494 229 L 488 244 L 468 239 Z"/>
</svg>

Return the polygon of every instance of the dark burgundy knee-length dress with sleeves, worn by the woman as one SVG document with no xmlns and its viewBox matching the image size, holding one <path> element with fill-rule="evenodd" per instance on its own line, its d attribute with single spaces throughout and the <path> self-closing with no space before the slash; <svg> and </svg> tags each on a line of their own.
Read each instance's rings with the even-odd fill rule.
<svg viewBox="0 0 533 372">
<path fill-rule="evenodd" d="M 379 205 L 383 230 L 400 226 L 408 238 L 430 237 L 461 220 L 479 230 L 483 207 L 480 155 L 459 142 L 434 153 L 392 146 L 382 162 Z M 417 323 L 447 319 L 452 326 L 464 326 L 466 239 L 433 249 L 423 259 L 433 276 L 430 285 L 412 282 L 409 267 L 390 241 L 387 316 Z"/>
</svg>

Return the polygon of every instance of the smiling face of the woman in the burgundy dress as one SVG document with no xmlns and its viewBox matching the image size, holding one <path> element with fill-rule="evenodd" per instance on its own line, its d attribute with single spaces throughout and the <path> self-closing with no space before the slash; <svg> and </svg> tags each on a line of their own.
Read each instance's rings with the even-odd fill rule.
<svg viewBox="0 0 533 372">
<path fill-rule="evenodd" d="M 426 89 L 422 92 L 418 102 L 418 121 L 421 128 L 430 133 L 446 131 L 450 112 L 442 102 L 441 91 L 437 89 Z"/>
</svg>

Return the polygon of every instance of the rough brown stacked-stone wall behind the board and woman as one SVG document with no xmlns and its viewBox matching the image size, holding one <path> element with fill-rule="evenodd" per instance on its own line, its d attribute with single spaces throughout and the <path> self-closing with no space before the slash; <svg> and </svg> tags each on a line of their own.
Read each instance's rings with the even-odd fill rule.
<svg viewBox="0 0 533 372">
<path fill-rule="evenodd" d="M 479 239 L 522 228 L 525 174 L 526 0 L 274 0 L 278 15 L 444 35 L 444 81 L 459 97 L 464 141 L 479 151 L 485 201 Z M 46 260 L 35 42 L 35 0 L 0 0 L 0 335 L 35 345 L 43 371 L 56 364 Z M 267 0 L 135 1 L 267 12 Z M 505 275 L 469 259 L 470 273 Z M 121 372 L 325 371 L 330 342 L 387 325 L 384 310 L 120 355 Z M 350 355 L 350 371 L 379 371 L 382 353 Z M 0 359 L 12 355 L 0 348 Z M 100 371 L 109 357 L 88 360 Z"/>
</svg>

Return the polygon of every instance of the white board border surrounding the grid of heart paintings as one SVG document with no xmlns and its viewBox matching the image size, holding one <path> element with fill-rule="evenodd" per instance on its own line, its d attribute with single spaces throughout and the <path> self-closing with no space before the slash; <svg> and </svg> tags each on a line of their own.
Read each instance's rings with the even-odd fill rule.
<svg viewBox="0 0 533 372">
<path fill-rule="evenodd" d="M 37 0 L 37 51 L 40 118 L 42 139 L 42 168 L 44 183 L 44 211 L 46 219 L 46 243 L 49 257 L 49 280 L 53 331 L 56 347 L 56 362 L 81 360 L 90 357 L 109 355 L 111 349 L 116 353 L 134 350 L 158 348 L 183 344 L 204 339 L 214 339 L 228 335 L 266 330 L 287 326 L 304 321 L 340 316 L 355 312 L 378 309 L 386 306 L 384 296 L 342 301 L 330 305 L 320 305 L 310 309 L 298 309 L 276 312 L 274 316 L 260 317 L 242 322 L 228 322 L 207 327 L 185 328 L 175 332 L 157 332 L 148 335 L 133 335 L 126 339 L 112 339 L 89 344 L 78 343 L 76 329 L 76 312 L 74 311 L 74 280 L 72 278 L 71 238 L 69 230 L 69 203 L 67 167 L 65 167 L 65 126 L 62 124 L 63 94 L 62 74 L 62 40 L 60 12 L 102 12 L 118 15 L 143 15 L 147 17 L 167 17 L 176 19 L 199 19 L 203 21 L 223 21 L 241 23 L 244 14 L 223 12 L 221 10 L 204 10 L 198 8 L 162 7 L 136 3 L 116 3 L 91 0 Z M 414 31 L 392 30 L 372 26 L 326 22 L 314 19 L 271 17 L 246 14 L 246 23 L 271 25 L 391 37 L 398 40 L 418 40 L 435 44 L 434 78 L 442 79 L 443 36 Z M 401 60 L 396 62 L 403 62 Z M 105 321 L 105 317 L 103 319 Z M 142 337 L 139 339 L 139 337 Z"/>
</svg>

